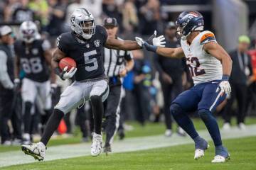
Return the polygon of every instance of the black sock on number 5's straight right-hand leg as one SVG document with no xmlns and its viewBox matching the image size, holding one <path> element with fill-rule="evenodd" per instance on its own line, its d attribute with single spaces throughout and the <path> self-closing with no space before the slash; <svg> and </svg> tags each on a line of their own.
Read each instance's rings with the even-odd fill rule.
<svg viewBox="0 0 256 170">
<path fill-rule="evenodd" d="M 102 128 L 102 116 L 103 116 L 103 103 L 100 96 L 91 96 L 90 101 L 92 103 L 92 114 L 94 117 L 95 133 L 101 134 Z"/>
</svg>

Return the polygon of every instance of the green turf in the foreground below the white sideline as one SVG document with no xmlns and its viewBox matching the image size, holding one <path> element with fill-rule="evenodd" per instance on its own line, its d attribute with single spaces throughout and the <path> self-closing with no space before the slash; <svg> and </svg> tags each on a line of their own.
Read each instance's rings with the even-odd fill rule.
<svg viewBox="0 0 256 170">
<path fill-rule="evenodd" d="M 214 148 L 206 152 L 206 156 L 198 161 L 193 159 L 194 146 L 180 145 L 149 149 L 140 152 L 126 152 L 110 154 L 108 157 L 77 157 L 73 159 L 60 159 L 50 162 L 36 162 L 3 168 L 11 169 L 163 169 L 163 170 L 255 170 L 256 169 L 256 137 L 246 137 L 233 140 L 224 140 L 228 147 L 231 159 L 224 164 L 211 164 L 214 157 Z M 213 146 L 213 143 L 210 143 Z M 65 167 L 65 168 L 64 168 Z"/>
</svg>

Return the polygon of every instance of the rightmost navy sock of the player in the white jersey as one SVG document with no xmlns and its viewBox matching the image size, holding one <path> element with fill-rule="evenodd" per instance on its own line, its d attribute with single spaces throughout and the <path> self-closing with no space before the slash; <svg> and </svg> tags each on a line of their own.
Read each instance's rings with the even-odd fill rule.
<svg viewBox="0 0 256 170">
<path fill-rule="evenodd" d="M 215 147 L 222 145 L 218 123 L 216 119 L 213 117 L 213 114 L 206 109 L 199 110 L 198 114 L 203 120 L 203 123 L 205 123 L 206 128 L 208 129 L 208 132 L 210 133 L 210 136 L 213 139 Z"/>
</svg>

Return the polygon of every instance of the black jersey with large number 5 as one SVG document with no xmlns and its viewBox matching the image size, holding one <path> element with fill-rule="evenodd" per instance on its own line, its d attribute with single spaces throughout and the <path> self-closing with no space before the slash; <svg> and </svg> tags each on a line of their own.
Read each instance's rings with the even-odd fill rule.
<svg viewBox="0 0 256 170">
<path fill-rule="evenodd" d="M 75 33 L 63 33 L 57 38 L 58 48 L 77 64 L 75 80 L 95 79 L 105 75 L 102 57 L 103 45 L 107 40 L 107 31 L 96 26 L 95 34 L 89 40 L 79 40 Z"/>
</svg>

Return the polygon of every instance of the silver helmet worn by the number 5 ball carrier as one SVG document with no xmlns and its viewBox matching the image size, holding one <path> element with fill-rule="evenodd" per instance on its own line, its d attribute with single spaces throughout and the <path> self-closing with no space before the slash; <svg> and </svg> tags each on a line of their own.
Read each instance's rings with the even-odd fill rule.
<svg viewBox="0 0 256 170">
<path fill-rule="evenodd" d="M 95 34 L 95 18 L 85 8 L 75 9 L 70 16 L 70 26 L 71 30 L 86 40 L 89 40 Z"/>
</svg>

